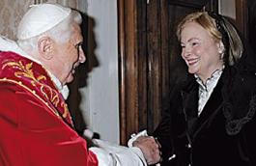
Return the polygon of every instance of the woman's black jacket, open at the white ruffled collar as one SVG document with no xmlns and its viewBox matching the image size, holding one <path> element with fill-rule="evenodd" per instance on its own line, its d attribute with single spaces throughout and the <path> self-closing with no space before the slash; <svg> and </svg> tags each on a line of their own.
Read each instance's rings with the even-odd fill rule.
<svg viewBox="0 0 256 166">
<path fill-rule="evenodd" d="M 161 144 L 161 166 L 256 166 L 255 93 L 236 76 L 231 85 L 236 88 L 223 91 L 228 74 L 221 75 L 200 117 L 197 116 L 199 86 L 195 78 L 174 88 L 169 108 L 153 133 Z M 255 71 L 244 75 L 252 77 L 248 80 L 256 85 Z M 241 124 L 247 120 L 248 110 L 252 118 Z M 231 132 L 232 123 L 241 128 Z"/>
</svg>

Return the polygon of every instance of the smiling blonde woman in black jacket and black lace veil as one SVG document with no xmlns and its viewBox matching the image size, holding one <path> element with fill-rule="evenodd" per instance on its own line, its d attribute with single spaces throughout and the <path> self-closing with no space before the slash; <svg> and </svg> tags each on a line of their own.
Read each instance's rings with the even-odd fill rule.
<svg viewBox="0 0 256 166">
<path fill-rule="evenodd" d="M 188 14 L 177 37 L 192 76 L 174 88 L 154 132 L 161 166 L 256 165 L 255 54 L 219 14 Z"/>
</svg>

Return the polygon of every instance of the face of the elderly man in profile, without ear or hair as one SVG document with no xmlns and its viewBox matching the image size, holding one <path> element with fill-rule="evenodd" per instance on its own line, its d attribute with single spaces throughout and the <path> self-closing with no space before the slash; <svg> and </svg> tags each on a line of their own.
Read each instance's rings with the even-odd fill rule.
<svg viewBox="0 0 256 166">
<path fill-rule="evenodd" d="M 62 85 L 73 80 L 75 69 L 86 60 L 81 45 L 83 38 L 80 26 L 76 23 L 73 23 L 72 26 L 71 39 L 65 43 L 56 43 L 55 54 L 53 55 L 55 57 L 54 74 Z"/>
</svg>

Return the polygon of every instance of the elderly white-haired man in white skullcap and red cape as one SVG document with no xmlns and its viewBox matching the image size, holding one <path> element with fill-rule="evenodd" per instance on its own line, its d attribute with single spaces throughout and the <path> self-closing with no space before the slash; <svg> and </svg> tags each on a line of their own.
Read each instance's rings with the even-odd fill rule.
<svg viewBox="0 0 256 166">
<path fill-rule="evenodd" d="M 0 38 L 0 165 L 147 165 L 159 157 L 94 140 L 73 126 L 65 99 L 67 83 L 86 58 L 81 48 L 81 15 L 58 4 L 34 5 L 20 21 L 17 39 Z M 146 146 L 147 147 L 147 146 Z M 148 151 L 145 151 L 148 152 Z"/>
</svg>

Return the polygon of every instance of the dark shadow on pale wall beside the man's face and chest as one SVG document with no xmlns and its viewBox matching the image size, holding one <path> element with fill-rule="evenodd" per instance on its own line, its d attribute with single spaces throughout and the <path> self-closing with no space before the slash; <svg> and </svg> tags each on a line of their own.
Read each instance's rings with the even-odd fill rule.
<svg viewBox="0 0 256 166">
<path fill-rule="evenodd" d="M 95 39 L 94 27 L 95 20 L 87 14 L 82 14 L 83 22 L 81 24 L 81 30 L 83 35 L 83 50 L 86 56 L 86 62 L 80 64 L 75 72 L 74 80 L 69 84 L 70 97 L 67 102 L 71 111 L 72 121 L 79 134 L 82 134 L 83 130 L 87 128 L 87 124 L 84 121 L 82 110 L 79 105 L 81 102 L 81 94 L 78 89 L 88 86 L 88 74 L 95 68 L 99 67 L 99 61 L 96 57 L 95 50 L 97 43 Z M 99 136 L 97 136 L 99 137 Z"/>
</svg>

